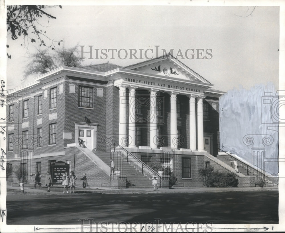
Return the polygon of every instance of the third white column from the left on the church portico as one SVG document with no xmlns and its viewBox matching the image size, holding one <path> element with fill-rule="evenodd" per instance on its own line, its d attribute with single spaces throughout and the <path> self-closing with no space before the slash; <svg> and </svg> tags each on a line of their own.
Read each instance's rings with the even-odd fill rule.
<svg viewBox="0 0 285 233">
<path fill-rule="evenodd" d="M 152 149 L 157 148 L 156 93 L 157 90 L 150 92 L 150 147 Z"/>
</svg>

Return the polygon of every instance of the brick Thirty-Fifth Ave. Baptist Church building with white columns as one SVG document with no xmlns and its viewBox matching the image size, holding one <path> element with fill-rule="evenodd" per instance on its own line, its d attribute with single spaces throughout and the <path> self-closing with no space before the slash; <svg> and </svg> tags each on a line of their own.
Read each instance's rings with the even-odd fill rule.
<svg viewBox="0 0 285 233">
<path fill-rule="evenodd" d="M 224 93 L 212 87 L 173 57 L 56 68 L 7 97 L 7 168 L 27 182 L 50 171 L 61 184 L 74 170 L 90 186 L 139 188 L 169 167 L 176 185 L 202 186 L 199 168 L 223 168 L 214 156 Z"/>
</svg>

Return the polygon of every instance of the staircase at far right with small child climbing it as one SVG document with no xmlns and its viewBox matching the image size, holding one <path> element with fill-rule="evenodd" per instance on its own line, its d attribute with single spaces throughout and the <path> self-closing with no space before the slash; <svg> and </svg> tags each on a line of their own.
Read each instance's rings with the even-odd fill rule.
<svg viewBox="0 0 285 233">
<path fill-rule="evenodd" d="M 234 158 L 231 155 L 219 155 L 219 156 L 217 156 L 217 158 L 220 161 L 226 163 L 227 165 L 235 168 L 235 165 L 233 163 Z M 238 164 L 239 172 L 244 174 L 245 176 L 252 177 L 253 180 L 255 180 L 255 182 L 257 182 L 260 178 L 263 178 L 263 176 L 261 177 L 260 173 L 257 172 L 255 169 L 253 169 L 251 166 L 246 165 L 239 160 L 237 160 L 237 164 Z M 277 187 L 277 184 L 275 184 L 274 182 L 269 180 L 266 176 L 264 176 L 264 180 L 266 181 L 267 187 Z"/>
</svg>

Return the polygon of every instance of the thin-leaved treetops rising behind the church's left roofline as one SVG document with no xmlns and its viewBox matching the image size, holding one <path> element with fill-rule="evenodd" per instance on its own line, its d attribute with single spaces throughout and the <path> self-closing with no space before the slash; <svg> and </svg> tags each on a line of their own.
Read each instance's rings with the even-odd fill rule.
<svg viewBox="0 0 285 233">
<path fill-rule="evenodd" d="M 33 74 L 45 74 L 59 66 L 80 66 L 82 60 L 80 59 L 77 48 L 78 45 L 71 48 L 63 46 L 59 51 L 53 53 L 48 49 L 37 49 L 37 52 L 31 54 L 29 57 L 30 62 L 24 72 L 23 80 Z"/>
</svg>

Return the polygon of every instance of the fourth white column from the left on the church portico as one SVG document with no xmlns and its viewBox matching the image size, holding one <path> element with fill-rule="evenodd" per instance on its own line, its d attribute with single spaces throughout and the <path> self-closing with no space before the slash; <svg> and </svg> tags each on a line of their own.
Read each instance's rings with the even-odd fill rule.
<svg viewBox="0 0 285 233">
<path fill-rule="evenodd" d="M 170 146 L 177 148 L 177 93 L 171 92 L 170 96 Z"/>
</svg>

